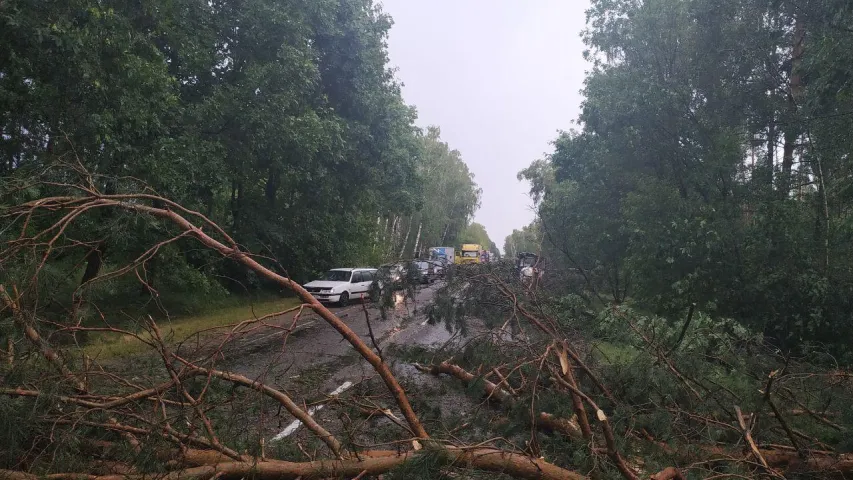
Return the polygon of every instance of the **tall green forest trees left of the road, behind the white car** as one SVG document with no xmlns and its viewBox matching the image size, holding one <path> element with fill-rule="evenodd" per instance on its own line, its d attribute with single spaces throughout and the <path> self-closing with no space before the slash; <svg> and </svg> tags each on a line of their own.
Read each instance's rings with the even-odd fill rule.
<svg viewBox="0 0 853 480">
<path fill-rule="evenodd" d="M 134 179 L 203 212 L 302 281 L 453 245 L 471 223 L 480 190 L 437 127 L 415 126 L 388 64 L 392 21 L 370 0 L 0 8 L 4 202 L 50 195 L 24 185 L 79 164 L 116 179 L 105 193 Z M 56 287 L 136 258 L 152 227 L 87 218 L 73 253 L 50 259 Z M 184 241 L 147 275 L 176 311 L 270 287 Z M 140 300 L 134 283 L 111 298 Z"/>
</svg>

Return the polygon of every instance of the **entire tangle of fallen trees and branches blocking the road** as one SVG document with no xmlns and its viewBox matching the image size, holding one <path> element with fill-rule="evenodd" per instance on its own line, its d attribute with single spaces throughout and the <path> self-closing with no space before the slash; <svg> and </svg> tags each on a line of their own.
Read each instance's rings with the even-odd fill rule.
<svg viewBox="0 0 853 480">
<path fill-rule="evenodd" d="M 75 175 L 79 181 L 70 182 Z M 422 352 L 416 365 L 450 375 L 469 391 L 482 387 L 475 403 L 504 412 L 514 428 L 504 435 L 500 422 L 475 416 L 470 422 L 480 423 L 464 434 L 458 429 L 467 422 L 438 429 L 441 422 L 419 415 L 418 392 L 411 390 L 417 387 L 404 387 L 375 338 L 363 340 L 203 214 L 147 191 L 105 194 L 87 175 L 66 171 L 62 182 L 48 182 L 56 195 L 2 213 L 17 230 L 0 248 L 0 266 L 16 272 L 0 290 L 0 315 L 18 329 L 8 342 L 0 386 L 0 406 L 11 412 L 17 435 L 12 445 L 18 448 L 7 452 L 4 478 L 365 478 L 405 468 L 425 469 L 425 475 L 474 469 L 516 478 L 626 480 L 853 472 L 839 439 L 849 429 L 845 407 L 853 404 L 853 376 L 846 371 L 781 355 L 748 336 L 700 341 L 680 325 L 622 306 L 578 317 L 555 314 L 559 305 L 520 285 L 502 264 L 452 272 L 430 312 L 452 330 L 480 319 L 488 335 L 466 338 L 449 359 L 446 351 L 439 361 L 426 358 L 437 352 Z M 81 243 L 67 232 L 104 209 L 156 219 L 157 239 L 134 262 L 87 279 L 66 299 L 67 311 L 45 309 L 40 286 L 46 266 L 99 241 Z M 87 303 L 87 288 L 125 276 L 136 278 L 156 301 L 156 289 L 146 281 L 148 263 L 171 242 L 189 240 L 294 292 L 300 305 L 283 310 L 296 312 L 291 326 L 264 316 L 176 344 L 151 316 L 139 319 L 138 328 L 124 328 Z M 85 306 L 90 313 L 84 321 Z M 314 394 L 311 400 L 267 380 L 265 369 L 249 377 L 220 367 L 224 349 L 248 332 L 272 330 L 286 349 L 303 310 L 334 329 L 369 365 L 377 382 L 364 381 L 368 394 Z M 691 315 L 691 330 L 711 328 L 706 315 Z M 609 332 L 609 343 L 597 340 L 599 330 Z M 75 338 L 89 332 L 144 345 L 147 370 L 131 366 L 129 372 L 90 358 L 85 345 L 52 342 L 58 333 Z M 321 403 L 335 410 L 337 420 L 313 416 Z M 275 409 L 279 413 L 271 413 Z M 374 417 L 393 425 L 393 439 L 364 440 Z M 304 425 L 306 435 L 272 448 L 265 434 L 284 418 Z M 84 452 L 83 445 L 105 443 L 113 447 L 93 456 Z M 378 445 L 394 450 L 377 452 Z M 15 455 L 20 459 L 11 459 Z"/>
</svg>

